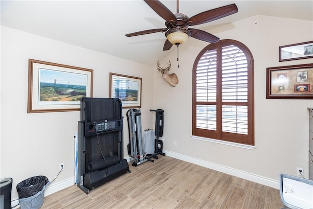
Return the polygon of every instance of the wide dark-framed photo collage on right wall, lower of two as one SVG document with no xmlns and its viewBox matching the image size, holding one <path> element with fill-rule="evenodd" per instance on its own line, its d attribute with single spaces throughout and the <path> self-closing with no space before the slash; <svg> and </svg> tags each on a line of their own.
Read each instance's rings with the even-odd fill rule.
<svg viewBox="0 0 313 209">
<path fill-rule="evenodd" d="M 313 64 L 267 68 L 267 99 L 313 99 Z"/>
</svg>

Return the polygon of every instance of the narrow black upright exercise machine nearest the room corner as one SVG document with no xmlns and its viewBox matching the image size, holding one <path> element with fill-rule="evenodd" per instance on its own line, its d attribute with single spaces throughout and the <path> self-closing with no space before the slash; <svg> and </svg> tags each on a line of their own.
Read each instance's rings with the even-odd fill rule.
<svg viewBox="0 0 313 209">
<path fill-rule="evenodd" d="M 157 159 L 156 155 L 160 154 L 165 156 L 163 153 L 163 141 L 158 139 L 163 136 L 163 126 L 164 126 L 164 111 L 162 109 L 150 110 L 152 112 L 156 112 L 156 139 L 155 139 L 155 155 L 153 158 Z"/>
</svg>

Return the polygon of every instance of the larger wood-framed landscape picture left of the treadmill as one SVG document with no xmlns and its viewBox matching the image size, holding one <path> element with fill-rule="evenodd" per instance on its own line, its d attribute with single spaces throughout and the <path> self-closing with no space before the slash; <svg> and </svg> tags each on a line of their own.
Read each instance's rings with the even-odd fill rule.
<svg viewBox="0 0 313 209">
<path fill-rule="evenodd" d="M 29 59 L 27 113 L 79 111 L 92 82 L 93 70 Z"/>
</svg>

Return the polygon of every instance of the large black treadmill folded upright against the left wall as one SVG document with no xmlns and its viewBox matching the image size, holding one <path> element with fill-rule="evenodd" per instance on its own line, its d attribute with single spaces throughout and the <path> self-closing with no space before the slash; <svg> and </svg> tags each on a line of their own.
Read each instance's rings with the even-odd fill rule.
<svg viewBox="0 0 313 209">
<path fill-rule="evenodd" d="M 123 159 L 120 99 L 84 97 L 80 107 L 77 186 L 89 194 L 90 190 L 131 171 Z"/>
</svg>

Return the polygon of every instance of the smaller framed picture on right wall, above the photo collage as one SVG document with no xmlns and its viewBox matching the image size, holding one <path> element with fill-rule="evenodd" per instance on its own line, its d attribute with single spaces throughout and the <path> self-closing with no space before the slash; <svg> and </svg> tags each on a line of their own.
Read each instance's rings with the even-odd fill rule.
<svg viewBox="0 0 313 209">
<path fill-rule="evenodd" d="M 313 41 L 279 46 L 279 62 L 313 58 Z"/>
</svg>

